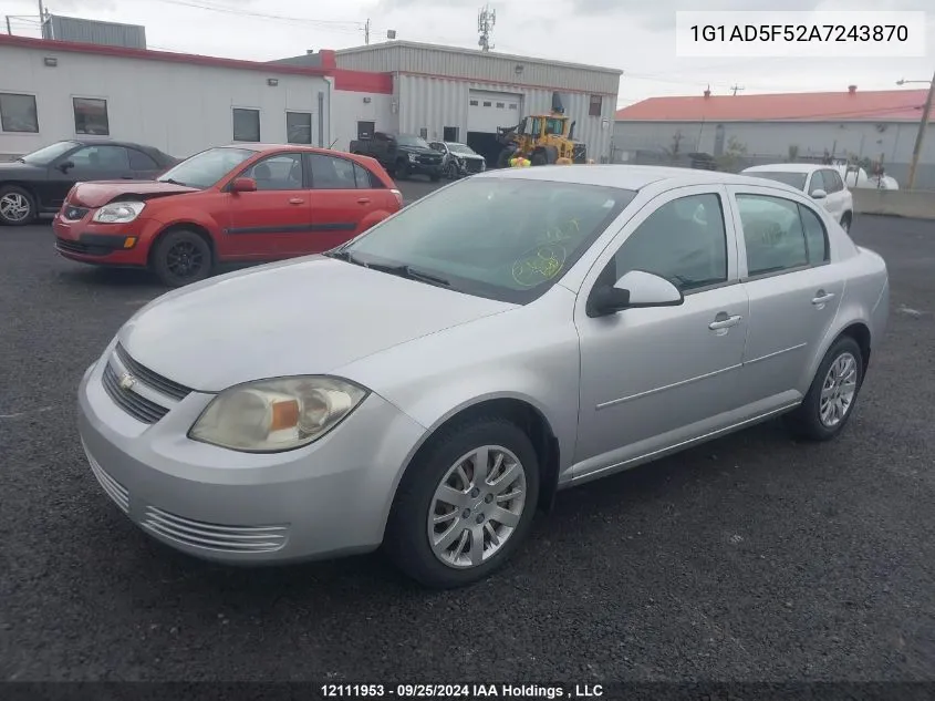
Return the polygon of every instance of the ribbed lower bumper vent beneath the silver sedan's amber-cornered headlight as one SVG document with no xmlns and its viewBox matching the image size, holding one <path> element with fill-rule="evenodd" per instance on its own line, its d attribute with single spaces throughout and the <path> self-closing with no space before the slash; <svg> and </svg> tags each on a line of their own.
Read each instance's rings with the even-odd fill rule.
<svg viewBox="0 0 935 701">
<path fill-rule="evenodd" d="M 169 540 L 202 550 L 272 553 L 285 545 L 288 526 L 221 526 L 147 506 L 143 527 Z"/>
</svg>

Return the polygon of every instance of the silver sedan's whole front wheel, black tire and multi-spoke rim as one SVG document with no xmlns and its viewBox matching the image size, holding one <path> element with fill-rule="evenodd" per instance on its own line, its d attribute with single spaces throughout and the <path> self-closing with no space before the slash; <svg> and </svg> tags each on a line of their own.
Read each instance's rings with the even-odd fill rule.
<svg viewBox="0 0 935 701">
<path fill-rule="evenodd" d="M 470 456 L 485 446 L 489 451 L 488 465 L 494 465 L 495 476 L 502 475 L 502 470 L 508 466 L 518 467 L 519 472 L 505 477 L 507 482 L 499 487 L 470 489 L 468 487 L 474 480 Z M 497 455 L 502 456 L 502 463 L 497 461 Z M 464 465 L 463 473 L 470 483 L 465 483 L 458 473 L 459 464 Z M 502 467 L 497 468 L 497 465 Z M 464 494 L 463 497 L 454 497 L 458 498 L 458 506 L 436 501 L 436 489 L 440 489 L 445 482 L 451 487 L 449 494 Z M 519 493 L 516 493 L 517 487 Z M 523 492 L 522 503 L 518 504 L 518 495 Z M 517 496 L 512 501 L 502 501 L 503 494 Z M 498 416 L 454 424 L 433 436 L 403 475 L 387 522 L 384 550 L 403 573 L 423 586 L 450 589 L 472 584 L 499 569 L 519 548 L 532 525 L 538 497 L 539 461 L 522 430 Z M 506 507 L 500 513 L 495 512 L 499 508 L 498 504 Z M 454 520 L 429 525 L 430 515 L 446 516 L 448 509 L 453 509 Z M 510 518 L 509 523 L 515 525 L 507 526 L 498 520 L 498 516 L 505 517 L 508 511 L 516 518 Z M 451 525 L 447 526 L 448 523 Z M 440 533 L 438 529 L 441 529 Z M 490 530 L 499 536 L 499 544 L 490 537 Z M 450 544 L 439 545 L 440 555 L 433 549 L 430 532 L 435 536 L 448 535 L 450 538 Z M 480 535 L 479 540 L 475 539 L 475 534 Z M 474 544 L 478 542 L 479 549 L 475 549 Z M 463 548 L 460 555 L 459 548 Z M 472 553 L 479 554 L 480 564 L 470 563 Z M 443 561 L 443 556 L 448 560 Z"/>
</svg>

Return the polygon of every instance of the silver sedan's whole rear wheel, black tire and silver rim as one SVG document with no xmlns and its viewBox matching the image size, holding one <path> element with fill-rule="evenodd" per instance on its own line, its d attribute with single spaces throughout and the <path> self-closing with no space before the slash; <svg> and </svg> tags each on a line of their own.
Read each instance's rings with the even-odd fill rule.
<svg viewBox="0 0 935 701">
<path fill-rule="evenodd" d="M 848 369 L 849 365 L 850 370 Z M 843 406 L 843 416 L 834 423 L 828 421 L 828 416 L 824 420 L 822 419 L 824 400 L 821 396 L 825 384 L 833 382 L 830 373 L 832 367 L 835 370 L 835 374 L 839 374 L 841 370 L 844 370 L 844 374 L 843 384 L 840 384 L 839 378 L 839 385 L 832 390 L 831 403 L 834 403 L 834 396 L 840 396 L 842 401 L 846 402 L 845 404 L 839 404 L 839 408 Z M 824 354 L 824 359 L 818 367 L 818 372 L 815 372 L 806 399 L 796 411 L 785 416 L 786 423 L 792 433 L 808 441 L 830 441 L 841 433 L 854 413 L 854 404 L 858 401 L 858 395 L 863 384 L 863 375 L 864 360 L 860 346 L 851 337 L 842 336 L 834 341 Z M 852 382 L 849 382 L 848 380 L 851 378 Z M 842 389 L 843 393 L 840 393 Z M 849 389 L 852 391 L 850 391 L 850 401 L 846 401 Z M 834 419 L 835 416 L 831 417 Z"/>
</svg>

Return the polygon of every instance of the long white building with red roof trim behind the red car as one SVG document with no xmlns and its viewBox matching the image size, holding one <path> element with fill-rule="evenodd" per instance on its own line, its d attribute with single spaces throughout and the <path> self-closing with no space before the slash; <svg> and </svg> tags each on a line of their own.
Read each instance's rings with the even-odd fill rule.
<svg viewBox="0 0 935 701">
<path fill-rule="evenodd" d="M 10 35 L 0 66 L 0 158 L 76 137 L 177 157 L 232 142 L 329 146 L 349 118 L 335 105 L 392 92 L 387 75 Z"/>
</svg>

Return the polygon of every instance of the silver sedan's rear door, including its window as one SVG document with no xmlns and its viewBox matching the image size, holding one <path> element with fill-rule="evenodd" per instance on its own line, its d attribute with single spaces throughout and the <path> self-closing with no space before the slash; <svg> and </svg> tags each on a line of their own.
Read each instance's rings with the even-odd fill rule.
<svg viewBox="0 0 935 701">
<path fill-rule="evenodd" d="M 829 261 L 828 233 L 812 206 L 731 187 L 750 329 L 739 386 L 748 401 L 800 399 L 810 359 L 831 329 L 844 282 Z M 798 388 L 798 389 L 797 389 Z"/>
</svg>

